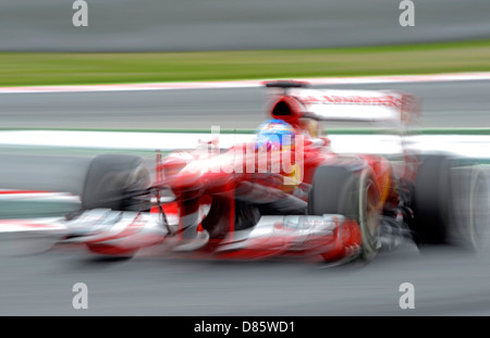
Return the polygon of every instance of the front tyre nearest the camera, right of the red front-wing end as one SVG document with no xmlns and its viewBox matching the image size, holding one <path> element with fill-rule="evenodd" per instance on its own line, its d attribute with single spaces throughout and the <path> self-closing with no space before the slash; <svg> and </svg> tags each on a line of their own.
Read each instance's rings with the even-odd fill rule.
<svg viewBox="0 0 490 338">
<path fill-rule="evenodd" d="M 342 214 L 355 220 L 363 237 L 360 259 L 371 261 L 378 253 L 380 193 L 369 168 L 353 173 L 341 166 L 318 167 L 309 192 L 308 214 Z"/>
</svg>

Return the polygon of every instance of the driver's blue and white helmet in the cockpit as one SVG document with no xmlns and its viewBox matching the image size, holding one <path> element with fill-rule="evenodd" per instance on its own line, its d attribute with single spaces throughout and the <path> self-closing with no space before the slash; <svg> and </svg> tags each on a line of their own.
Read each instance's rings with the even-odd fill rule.
<svg viewBox="0 0 490 338">
<path fill-rule="evenodd" d="M 256 149 L 292 150 L 294 148 L 294 128 L 286 122 L 271 118 L 257 129 Z"/>
</svg>

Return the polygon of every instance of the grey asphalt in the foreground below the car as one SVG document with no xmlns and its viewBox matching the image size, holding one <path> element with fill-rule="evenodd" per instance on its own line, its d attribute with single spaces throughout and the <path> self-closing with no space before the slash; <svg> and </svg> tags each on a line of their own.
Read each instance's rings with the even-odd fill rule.
<svg viewBox="0 0 490 338">
<path fill-rule="evenodd" d="M 489 252 L 407 245 L 366 266 L 90 256 L 84 249 L 0 258 L 0 315 L 489 315 Z M 75 283 L 88 309 L 74 310 Z M 402 283 L 415 309 L 402 310 Z"/>
</svg>

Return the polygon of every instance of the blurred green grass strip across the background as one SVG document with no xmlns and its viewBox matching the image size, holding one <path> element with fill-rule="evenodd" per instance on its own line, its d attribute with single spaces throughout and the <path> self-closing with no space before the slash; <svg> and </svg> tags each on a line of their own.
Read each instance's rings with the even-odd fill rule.
<svg viewBox="0 0 490 338">
<path fill-rule="evenodd" d="M 0 53 L 0 86 L 490 71 L 490 40 L 342 49 Z"/>
</svg>

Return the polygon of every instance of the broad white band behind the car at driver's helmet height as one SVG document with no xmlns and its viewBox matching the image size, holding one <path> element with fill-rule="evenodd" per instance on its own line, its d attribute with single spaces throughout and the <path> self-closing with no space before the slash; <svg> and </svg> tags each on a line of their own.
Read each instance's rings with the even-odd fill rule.
<svg viewBox="0 0 490 338">
<path fill-rule="evenodd" d="M 220 148 L 250 141 L 253 134 L 220 134 Z M 0 146 L 52 147 L 114 150 L 173 151 L 196 149 L 215 138 L 205 133 L 142 132 L 0 132 Z M 330 135 L 332 150 L 340 153 L 400 153 L 401 139 L 393 135 Z M 422 152 L 445 151 L 462 157 L 490 159 L 489 135 L 417 135 L 407 138 L 409 147 Z M 179 146 L 175 146 L 179 145 Z"/>
</svg>

